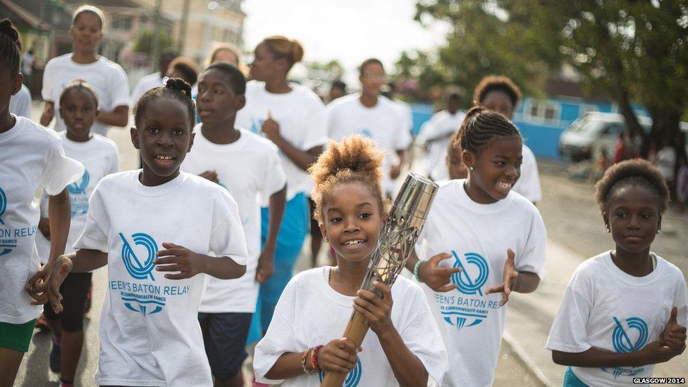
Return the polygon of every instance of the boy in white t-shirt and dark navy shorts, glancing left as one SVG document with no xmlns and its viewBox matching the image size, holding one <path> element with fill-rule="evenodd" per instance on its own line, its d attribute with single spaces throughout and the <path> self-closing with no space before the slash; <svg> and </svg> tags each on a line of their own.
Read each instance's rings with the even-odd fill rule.
<svg viewBox="0 0 688 387">
<path fill-rule="evenodd" d="M 209 278 L 198 319 L 215 386 L 244 386 L 241 364 L 258 283 L 273 272 L 277 233 L 286 202 L 286 179 L 277 147 L 266 138 L 236 128 L 236 112 L 245 104 L 246 79 L 230 63 L 214 63 L 201 73 L 193 151 L 182 170 L 200 174 L 229 190 L 239 206 L 247 238 L 246 274 L 234 280 Z M 260 197 L 269 197 L 268 238 L 260 246 Z"/>
</svg>

